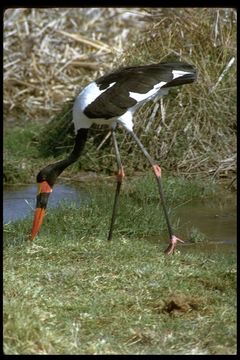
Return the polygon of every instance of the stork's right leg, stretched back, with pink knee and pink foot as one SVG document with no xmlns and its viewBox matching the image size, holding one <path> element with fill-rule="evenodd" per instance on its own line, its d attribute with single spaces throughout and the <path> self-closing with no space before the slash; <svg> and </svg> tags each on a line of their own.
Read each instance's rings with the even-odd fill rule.
<svg viewBox="0 0 240 360">
<path fill-rule="evenodd" d="M 164 211 L 164 216 L 165 216 L 165 219 L 166 219 L 166 222 L 167 222 L 168 233 L 169 233 L 169 237 L 170 237 L 170 244 L 167 247 L 167 249 L 165 250 L 165 252 L 167 254 L 172 254 L 174 252 L 174 250 L 175 250 L 177 242 L 178 241 L 183 242 L 183 240 L 181 240 L 181 239 L 177 238 L 175 235 L 173 235 L 173 230 L 172 230 L 172 226 L 170 224 L 170 220 L 169 220 L 169 216 L 168 216 L 168 212 L 167 212 L 167 208 L 166 208 L 166 203 L 165 203 L 165 199 L 164 199 L 164 195 L 163 195 L 162 182 L 161 182 L 161 168 L 160 168 L 160 166 L 155 164 L 155 161 L 149 155 L 149 153 L 147 152 L 147 150 L 145 149 L 145 147 L 143 146 L 143 144 L 141 143 L 141 141 L 139 140 L 137 135 L 133 131 L 131 131 L 130 134 L 132 135 L 132 137 L 134 138 L 134 140 L 136 141 L 136 143 L 138 144 L 138 146 L 142 150 L 142 152 L 145 155 L 145 157 L 147 158 L 147 160 L 152 165 L 152 168 L 153 168 L 156 180 L 157 180 L 160 199 L 161 199 L 161 203 L 162 203 L 162 207 L 163 207 L 163 211 Z"/>
</svg>

